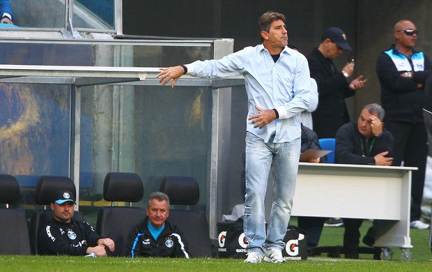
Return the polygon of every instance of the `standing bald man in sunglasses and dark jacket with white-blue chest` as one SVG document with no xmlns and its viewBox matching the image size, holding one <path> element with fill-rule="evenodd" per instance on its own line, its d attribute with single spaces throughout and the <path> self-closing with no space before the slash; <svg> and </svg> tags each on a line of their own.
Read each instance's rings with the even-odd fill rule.
<svg viewBox="0 0 432 272">
<path fill-rule="evenodd" d="M 376 73 L 381 84 L 381 103 L 386 128 L 394 135 L 394 165 L 418 167 L 412 172 L 410 227 L 427 229 L 420 221 L 428 153 L 424 126 L 424 84 L 432 73 L 429 58 L 413 50 L 417 28 L 408 20 L 394 26 L 396 44 L 378 55 Z"/>
</svg>

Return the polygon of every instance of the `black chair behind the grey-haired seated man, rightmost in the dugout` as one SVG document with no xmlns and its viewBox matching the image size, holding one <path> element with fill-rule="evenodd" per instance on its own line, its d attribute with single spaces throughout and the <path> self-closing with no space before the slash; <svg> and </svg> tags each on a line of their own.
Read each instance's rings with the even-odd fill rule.
<svg viewBox="0 0 432 272">
<path fill-rule="evenodd" d="M 171 205 L 195 205 L 199 201 L 199 186 L 190 176 L 166 176 L 160 191 L 169 196 Z M 170 209 L 168 220 L 185 234 L 192 257 L 212 257 L 212 245 L 206 215 L 202 211 Z"/>
</svg>

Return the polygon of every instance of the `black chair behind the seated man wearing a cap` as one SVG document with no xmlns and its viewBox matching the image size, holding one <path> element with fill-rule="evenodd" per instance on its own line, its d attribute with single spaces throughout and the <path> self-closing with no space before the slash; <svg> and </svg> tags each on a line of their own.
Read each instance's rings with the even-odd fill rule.
<svg viewBox="0 0 432 272">
<path fill-rule="evenodd" d="M 31 215 L 30 219 L 30 245 L 31 252 L 38 255 L 38 236 L 42 228 L 52 219 L 52 211 L 47 208 L 51 204 L 52 196 L 58 190 L 70 190 L 77 195 L 75 183 L 67 176 L 40 176 L 38 184 L 36 185 L 36 204 L 44 205 L 45 209 L 36 210 Z M 75 211 L 74 218 L 83 220 L 83 215 L 80 211 Z"/>
</svg>

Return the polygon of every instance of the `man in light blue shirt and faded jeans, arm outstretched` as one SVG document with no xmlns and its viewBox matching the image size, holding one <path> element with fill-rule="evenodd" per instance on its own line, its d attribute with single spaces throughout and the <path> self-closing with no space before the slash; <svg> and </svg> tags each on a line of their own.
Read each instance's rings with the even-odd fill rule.
<svg viewBox="0 0 432 272">
<path fill-rule="evenodd" d="M 267 12 L 259 19 L 262 44 L 224 56 L 161 68 L 157 77 L 171 86 L 187 73 L 194 77 L 243 75 L 248 97 L 246 135 L 245 262 L 285 262 L 281 250 L 291 216 L 300 157 L 300 113 L 309 105 L 307 59 L 288 44 L 285 16 Z M 272 171 L 273 205 L 265 232 L 264 198 Z"/>
</svg>

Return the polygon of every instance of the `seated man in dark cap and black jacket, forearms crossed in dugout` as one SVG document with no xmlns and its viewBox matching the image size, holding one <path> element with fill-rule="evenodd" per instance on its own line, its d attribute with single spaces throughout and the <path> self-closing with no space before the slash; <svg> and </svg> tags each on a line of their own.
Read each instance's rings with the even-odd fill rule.
<svg viewBox="0 0 432 272">
<path fill-rule="evenodd" d="M 116 256 L 122 250 L 121 237 L 104 238 L 86 221 L 73 218 L 75 195 L 69 190 L 56 192 L 50 204 L 53 218 L 39 235 L 40 255 Z M 120 245 L 120 246 L 119 246 Z"/>
</svg>

